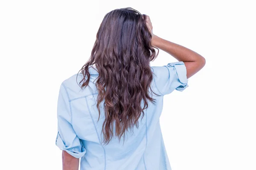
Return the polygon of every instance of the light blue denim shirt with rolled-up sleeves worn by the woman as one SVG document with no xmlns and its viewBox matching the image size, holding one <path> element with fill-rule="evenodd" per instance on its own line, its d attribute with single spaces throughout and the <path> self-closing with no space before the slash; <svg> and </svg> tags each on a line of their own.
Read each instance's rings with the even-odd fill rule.
<svg viewBox="0 0 256 170">
<path fill-rule="evenodd" d="M 95 68 L 95 67 L 94 67 Z M 96 68 L 95 68 L 96 69 Z M 163 96 L 175 89 L 188 87 L 184 62 L 172 62 L 163 66 L 151 66 L 154 73 L 151 88 L 156 105 L 148 102 L 143 119 L 134 133 L 127 133 L 121 142 L 114 136 L 107 145 L 103 139 L 102 123 L 105 119 L 103 102 L 101 116 L 96 108 L 98 72 L 89 68 L 91 89 L 81 90 L 77 82 L 82 74 L 64 80 L 58 96 L 58 134 L 56 145 L 70 155 L 81 158 L 81 170 L 171 170 L 159 124 L 163 109 Z M 102 136 L 101 136 L 102 134 Z"/>
</svg>

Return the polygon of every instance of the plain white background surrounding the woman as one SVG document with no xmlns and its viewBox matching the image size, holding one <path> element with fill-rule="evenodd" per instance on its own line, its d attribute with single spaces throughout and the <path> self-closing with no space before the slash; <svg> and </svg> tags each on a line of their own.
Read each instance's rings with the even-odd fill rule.
<svg viewBox="0 0 256 170">
<path fill-rule="evenodd" d="M 256 170 L 256 10 L 244 0 L 1 0 L 1 168 L 61 170 L 56 104 L 90 57 L 104 15 L 132 7 L 205 67 L 164 97 L 172 170 Z M 164 51 L 151 65 L 177 61 Z"/>
</svg>

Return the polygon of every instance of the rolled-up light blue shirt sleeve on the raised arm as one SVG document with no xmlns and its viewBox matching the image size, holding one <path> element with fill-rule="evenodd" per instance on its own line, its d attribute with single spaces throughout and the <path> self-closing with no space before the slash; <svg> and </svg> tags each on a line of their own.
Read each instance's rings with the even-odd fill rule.
<svg viewBox="0 0 256 170">
<path fill-rule="evenodd" d="M 162 95 L 170 94 L 174 90 L 183 91 L 189 87 L 186 66 L 182 61 L 157 67 L 156 73 L 157 88 Z"/>
</svg>

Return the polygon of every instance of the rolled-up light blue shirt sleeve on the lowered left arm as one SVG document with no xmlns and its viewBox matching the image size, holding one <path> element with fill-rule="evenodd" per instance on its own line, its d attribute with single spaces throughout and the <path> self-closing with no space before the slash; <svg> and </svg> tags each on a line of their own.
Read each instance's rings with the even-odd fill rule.
<svg viewBox="0 0 256 170">
<path fill-rule="evenodd" d="M 65 85 L 62 83 L 57 105 L 58 133 L 55 144 L 75 158 L 81 158 L 86 150 L 72 126 L 72 108 Z"/>
</svg>

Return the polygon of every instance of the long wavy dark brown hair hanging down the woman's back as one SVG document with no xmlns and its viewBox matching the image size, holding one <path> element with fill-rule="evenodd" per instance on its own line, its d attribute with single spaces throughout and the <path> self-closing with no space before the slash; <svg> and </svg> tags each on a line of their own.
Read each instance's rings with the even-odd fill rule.
<svg viewBox="0 0 256 170">
<path fill-rule="evenodd" d="M 153 80 L 150 62 L 157 57 L 159 49 L 156 54 L 151 37 L 145 14 L 131 7 L 110 11 L 100 24 L 90 59 L 80 70 L 83 75 L 79 82 L 81 88 L 89 83 L 90 66 L 95 64 L 99 73 L 97 108 L 100 117 L 99 105 L 105 99 L 102 126 L 105 144 L 113 137 L 114 124 L 115 135 L 120 141 L 126 130 L 133 129 L 134 125 L 139 127 L 138 120 L 141 113 L 144 116 L 148 101 L 155 104 L 155 99 L 149 95 Z"/>
</svg>

